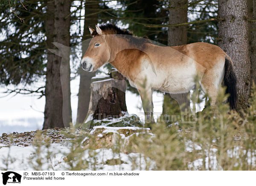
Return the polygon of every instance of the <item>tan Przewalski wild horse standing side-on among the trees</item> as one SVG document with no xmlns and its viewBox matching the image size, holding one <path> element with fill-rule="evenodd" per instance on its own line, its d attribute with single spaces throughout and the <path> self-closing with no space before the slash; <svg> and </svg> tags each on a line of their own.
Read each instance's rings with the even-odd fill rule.
<svg viewBox="0 0 256 186">
<path fill-rule="evenodd" d="M 186 93 L 201 76 L 201 87 L 213 106 L 218 87 L 224 81 L 228 102 L 236 108 L 236 75 L 230 57 L 218 46 L 193 43 L 181 46 L 157 46 L 146 38 L 138 38 L 113 24 L 89 27 L 91 36 L 81 66 L 92 72 L 111 63 L 131 86 L 139 90 L 146 121 L 153 122 L 153 89 L 167 93 Z M 146 83 L 145 83 L 146 79 Z M 143 84 L 144 83 L 144 84 Z"/>
</svg>

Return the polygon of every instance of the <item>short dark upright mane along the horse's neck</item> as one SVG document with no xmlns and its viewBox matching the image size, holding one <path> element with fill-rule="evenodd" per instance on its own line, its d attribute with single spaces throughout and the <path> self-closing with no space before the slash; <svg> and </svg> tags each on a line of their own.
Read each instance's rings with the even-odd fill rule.
<svg viewBox="0 0 256 186">
<path fill-rule="evenodd" d="M 112 23 L 101 24 L 99 28 L 102 29 L 105 34 L 116 34 L 119 37 L 127 39 L 131 44 L 137 47 L 141 47 L 145 43 L 151 43 L 146 36 L 143 38 L 134 36 L 132 32 L 126 29 L 120 29 L 118 26 Z M 99 34 L 96 32 L 96 30 L 94 30 L 91 35 L 97 36 Z"/>
</svg>

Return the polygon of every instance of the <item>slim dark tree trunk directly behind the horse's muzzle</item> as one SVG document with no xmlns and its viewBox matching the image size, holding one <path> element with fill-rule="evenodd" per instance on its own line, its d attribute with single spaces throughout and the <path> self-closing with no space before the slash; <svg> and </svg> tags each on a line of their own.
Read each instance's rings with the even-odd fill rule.
<svg viewBox="0 0 256 186">
<path fill-rule="evenodd" d="M 85 1 L 85 15 L 92 14 L 97 9 L 99 9 L 99 4 L 95 0 L 86 0 Z M 98 23 L 98 14 L 87 16 L 84 19 L 84 34 L 83 41 L 91 38 L 88 26 L 92 28 Z M 83 42 L 82 44 L 82 54 L 87 50 L 89 42 Z M 90 80 L 95 73 L 88 73 L 82 68 L 79 68 L 80 74 L 80 84 L 79 84 L 79 93 L 78 93 L 78 107 L 77 107 L 77 118 L 76 123 L 84 122 L 84 119 L 88 112 L 89 102 L 90 102 Z"/>
</svg>

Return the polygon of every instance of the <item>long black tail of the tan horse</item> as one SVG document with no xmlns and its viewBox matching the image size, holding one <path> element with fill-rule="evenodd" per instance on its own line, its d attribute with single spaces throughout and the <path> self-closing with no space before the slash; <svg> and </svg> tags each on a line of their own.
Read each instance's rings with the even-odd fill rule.
<svg viewBox="0 0 256 186">
<path fill-rule="evenodd" d="M 225 56 L 225 73 L 224 86 L 227 87 L 226 93 L 230 94 L 227 102 L 230 103 L 231 109 L 236 109 L 237 91 L 236 91 L 236 74 L 234 72 L 233 64 L 229 56 Z"/>
</svg>

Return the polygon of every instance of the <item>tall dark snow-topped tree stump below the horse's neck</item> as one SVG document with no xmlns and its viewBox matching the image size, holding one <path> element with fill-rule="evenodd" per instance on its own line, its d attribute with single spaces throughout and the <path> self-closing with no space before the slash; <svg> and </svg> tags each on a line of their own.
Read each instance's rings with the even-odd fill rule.
<svg viewBox="0 0 256 186">
<path fill-rule="evenodd" d="M 117 70 L 107 77 L 91 79 L 90 103 L 87 121 L 93 119 L 119 118 L 127 112 L 125 103 L 126 78 Z"/>
</svg>

